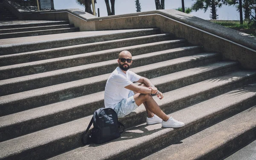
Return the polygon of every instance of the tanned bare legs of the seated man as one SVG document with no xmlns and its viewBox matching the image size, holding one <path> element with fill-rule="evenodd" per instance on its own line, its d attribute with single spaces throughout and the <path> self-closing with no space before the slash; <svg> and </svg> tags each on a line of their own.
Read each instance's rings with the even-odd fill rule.
<svg viewBox="0 0 256 160">
<path fill-rule="evenodd" d="M 139 84 L 140 86 L 147 87 L 144 83 Z M 135 92 L 134 92 L 135 93 Z M 159 116 L 163 121 L 167 121 L 170 117 L 164 113 L 157 102 L 154 101 L 153 97 L 150 94 L 142 94 L 142 93 L 135 93 L 134 101 L 139 106 L 143 103 L 146 108 L 146 112 L 148 114 L 148 118 L 151 118 L 156 114 Z"/>
</svg>

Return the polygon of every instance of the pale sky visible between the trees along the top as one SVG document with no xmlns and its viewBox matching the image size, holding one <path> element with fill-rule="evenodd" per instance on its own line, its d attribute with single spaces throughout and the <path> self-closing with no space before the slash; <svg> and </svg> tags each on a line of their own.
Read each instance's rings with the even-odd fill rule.
<svg viewBox="0 0 256 160">
<path fill-rule="evenodd" d="M 116 0 L 115 1 L 115 14 L 122 15 L 127 13 L 135 13 L 135 0 Z M 184 0 L 185 7 L 190 7 L 195 0 Z M 154 0 L 140 0 L 141 11 L 152 11 L 155 10 Z M 177 9 L 181 7 L 181 0 L 165 0 L 165 9 Z M 76 3 L 76 0 L 54 0 L 55 9 L 81 9 L 84 11 L 84 7 L 79 6 Z M 105 0 L 97 0 L 95 5 L 96 13 L 97 9 L 100 10 L 100 16 L 108 16 Z M 198 12 L 192 12 L 191 15 L 200 17 L 205 20 L 209 20 L 210 17 L 210 8 L 206 13 L 200 10 Z M 236 11 L 236 8 L 233 6 L 222 6 L 218 8 L 217 15 L 219 20 L 239 20 L 239 13 Z"/>
</svg>

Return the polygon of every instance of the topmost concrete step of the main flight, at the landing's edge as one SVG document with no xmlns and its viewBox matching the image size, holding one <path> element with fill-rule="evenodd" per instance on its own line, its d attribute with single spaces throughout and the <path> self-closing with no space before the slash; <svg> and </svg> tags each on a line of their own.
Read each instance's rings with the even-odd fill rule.
<svg viewBox="0 0 256 160">
<path fill-rule="evenodd" d="M 49 48 L 58 48 L 79 44 L 89 44 L 102 41 L 140 37 L 146 35 L 155 35 L 159 33 L 159 29 L 125 29 L 114 31 L 79 32 L 79 35 L 62 34 L 61 36 L 55 36 L 55 38 L 52 38 L 52 36 L 48 35 L 47 37 L 41 36 L 39 40 L 35 39 L 34 37 L 33 41 L 29 41 L 29 39 L 26 39 L 25 42 L 23 39 L 15 38 L 15 40 L 20 39 L 20 41 L 6 41 L 4 45 L 0 46 L 0 55 L 9 55 Z M 22 63 L 24 62 L 29 61 L 22 61 Z"/>
</svg>

